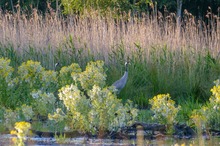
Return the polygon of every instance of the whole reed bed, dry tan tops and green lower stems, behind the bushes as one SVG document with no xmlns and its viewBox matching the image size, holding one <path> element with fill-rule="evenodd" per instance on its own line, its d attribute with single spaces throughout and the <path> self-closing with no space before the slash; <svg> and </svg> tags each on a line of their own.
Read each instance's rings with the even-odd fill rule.
<svg viewBox="0 0 220 146">
<path fill-rule="evenodd" d="M 129 80 L 120 97 L 140 107 L 158 93 L 170 93 L 179 102 L 208 100 L 220 77 L 220 20 L 211 13 L 202 21 L 185 11 L 177 24 L 172 13 L 115 17 L 95 11 L 56 17 L 33 10 L 28 16 L 0 13 L 0 24 L 0 56 L 10 58 L 13 66 L 32 59 L 49 69 L 56 62 L 84 67 L 101 59 L 110 85 L 129 58 Z"/>
</svg>

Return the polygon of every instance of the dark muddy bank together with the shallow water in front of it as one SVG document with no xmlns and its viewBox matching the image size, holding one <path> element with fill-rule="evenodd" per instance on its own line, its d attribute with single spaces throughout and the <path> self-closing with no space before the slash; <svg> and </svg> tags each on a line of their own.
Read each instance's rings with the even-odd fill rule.
<svg viewBox="0 0 220 146">
<path fill-rule="evenodd" d="M 160 124 L 135 123 L 117 133 L 102 136 L 82 134 L 77 131 L 54 133 L 34 131 L 26 137 L 26 146 L 220 146 L 220 131 L 209 130 L 198 136 L 189 126 L 174 125 L 174 133 L 166 134 L 166 127 Z M 64 136 L 65 135 L 65 136 Z M 0 146 L 14 145 L 11 134 L 0 134 Z"/>
</svg>

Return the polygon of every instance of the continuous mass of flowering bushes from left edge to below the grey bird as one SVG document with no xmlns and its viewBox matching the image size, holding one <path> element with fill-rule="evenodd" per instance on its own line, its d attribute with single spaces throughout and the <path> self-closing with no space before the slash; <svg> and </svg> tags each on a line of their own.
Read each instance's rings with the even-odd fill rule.
<svg viewBox="0 0 220 146">
<path fill-rule="evenodd" d="M 5 83 L 1 84 L 0 98 L 4 101 L 1 105 L 8 108 L 4 122 L 9 130 L 16 121 L 45 117 L 49 113 L 49 119 L 65 121 L 68 128 L 101 133 L 132 124 L 137 116 L 131 101 L 122 104 L 112 88 L 105 87 L 103 61 L 89 62 L 83 72 L 73 63 L 61 68 L 59 75 L 32 60 L 22 63 L 17 72 L 13 72 L 9 63 L 8 59 L 0 59 L 0 79 Z M 62 102 L 56 103 L 58 88 Z M 56 109 L 55 105 L 59 107 Z"/>
</svg>

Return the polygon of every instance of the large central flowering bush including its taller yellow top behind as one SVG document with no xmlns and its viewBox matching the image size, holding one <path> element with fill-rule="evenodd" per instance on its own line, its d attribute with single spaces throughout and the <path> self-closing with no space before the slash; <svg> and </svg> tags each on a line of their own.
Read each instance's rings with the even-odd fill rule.
<svg viewBox="0 0 220 146">
<path fill-rule="evenodd" d="M 106 75 L 103 65 L 102 61 L 90 62 L 86 70 L 78 74 L 79 78 L 74 78 L 76 74 L 72 74 L 75 84 L 59 90 L 59 98 L 67 112 L 64 114 L 58 109 L 54 115 L 49 114 L 49 118 L 57 122 L 65 119 L 71 129 L 91 133 L 98 131 L 99 134 L 132 124 L 138 110 L 131 101 L 123 105 L 110 89 L 104 88 Z"/>
</svg>

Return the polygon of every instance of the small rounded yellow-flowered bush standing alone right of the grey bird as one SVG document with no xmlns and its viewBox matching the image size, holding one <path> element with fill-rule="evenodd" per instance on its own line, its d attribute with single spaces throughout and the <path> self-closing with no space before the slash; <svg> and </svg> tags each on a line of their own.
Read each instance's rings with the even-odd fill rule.
<svg viewBox="0 0 220 146">
<path fill-rule="evenodd" d="M 154 113 L 154 119 L 162 124 L 173 124 L 180 106 L 175 107 L 175 102 L 171 100 L 169 94 L 159 94 L 149 100 L 151 111 Z"/>
</svg>

